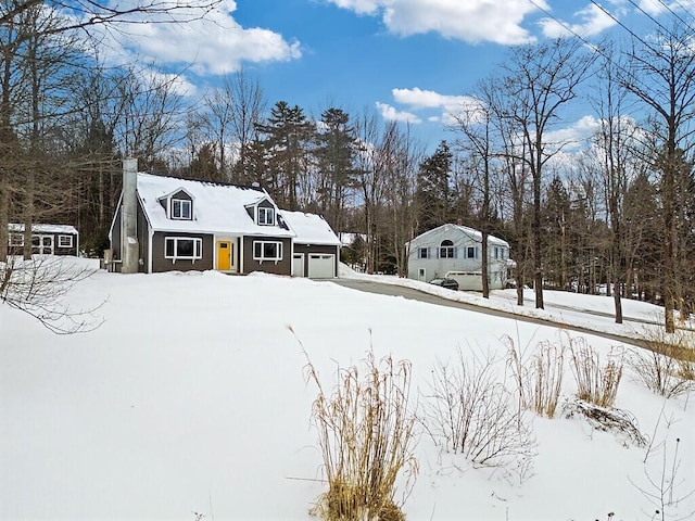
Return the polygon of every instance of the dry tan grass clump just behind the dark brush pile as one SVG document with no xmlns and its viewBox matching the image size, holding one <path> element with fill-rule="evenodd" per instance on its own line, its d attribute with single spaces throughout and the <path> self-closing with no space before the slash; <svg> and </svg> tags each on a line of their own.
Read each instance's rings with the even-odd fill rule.
<svg viewBox="0 0 695 521">
<path fill-rule="evenodd" d="M 622 350 L 611 348 L 605 366 L 584 338 L 570 339 L 570 353 L 577 397 L 599 407 L 612 407 L 622 378 Z"/>
</svg>

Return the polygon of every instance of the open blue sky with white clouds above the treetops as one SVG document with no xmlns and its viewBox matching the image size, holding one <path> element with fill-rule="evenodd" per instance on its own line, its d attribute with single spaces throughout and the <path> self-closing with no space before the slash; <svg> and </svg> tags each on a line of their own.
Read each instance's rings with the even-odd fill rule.
<svg viewBox="0 0 695 521">
<path fill-rule="evenodd" d="M 647 15 L 669 25 L 673 12 L 688 22 L 695 13 L 694 0 L 602 4 L 640 34 Z M 134 26 L 118 52 L 153 61 L 162 73 L 184 71 L 190 96 L 243 66 L 269 106 L 285 100 L 315 116 L 329 105 L 351 114 L 367 107 L 409 122 L 433 149 L 451 135 L 447 113 L 509 46 L 566 27 L 592 40 L 627 36 L 589 0 L 223 0 L 207 22 Z M 567 125 L 586 127 L 587 114 Z"/>
</svg>

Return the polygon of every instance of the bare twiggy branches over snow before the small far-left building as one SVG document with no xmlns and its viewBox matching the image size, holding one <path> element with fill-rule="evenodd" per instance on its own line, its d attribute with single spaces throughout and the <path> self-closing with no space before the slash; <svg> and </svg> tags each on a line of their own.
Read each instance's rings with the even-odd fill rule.
<svg viewBox="0 0 695 521">
<path fill-rule="evenodd" d="M 27 313 L 54 333 L 91 331 L 103 321 L 96 315 L 100 306 L 74 309 L 62 298 L 94 272 L 58 256 L 34 255 L 28 260 L 8 256 L 0 262 L 0 302 Z"/>
</svg>

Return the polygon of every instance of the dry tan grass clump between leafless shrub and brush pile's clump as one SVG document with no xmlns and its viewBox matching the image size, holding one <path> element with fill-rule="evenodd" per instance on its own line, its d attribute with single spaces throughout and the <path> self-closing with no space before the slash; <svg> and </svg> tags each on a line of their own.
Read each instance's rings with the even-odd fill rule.
<svg viewBox="0 0 695 521">
<path fill-rule="evenodd" d="M 503 343 L 507 345 L 507 365 L 511 368 L 521 407 L 554 418 L 563 389 L 564 344 L 542 341 L 531 360 L 525 364 L 511 338 L 505 336 Z"/>
</svg>

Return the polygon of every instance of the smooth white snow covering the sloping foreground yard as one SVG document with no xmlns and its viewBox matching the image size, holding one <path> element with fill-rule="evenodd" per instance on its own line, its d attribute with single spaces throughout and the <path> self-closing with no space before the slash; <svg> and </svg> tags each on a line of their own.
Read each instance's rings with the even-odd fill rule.
<svg viewBox="0 0 695 521">
<path fill-rule="evenodd" d="M 548 303 L 560 297 L 568 298 L 561 310 L 540 313 L 615 331 L 609 318 L 581 312 L 606 301 L 610 310 L 609 298 L 546 294 Z M 102 304 L 104 323 L 55 335 L 0 306 L 3 520 L 192 520 L 193 512 L 206 520 L 308 520 L 325 484 L 311 421 L 316 389 L 305 379 L 303 350 L 327 386 L 338 366 L 359 364 L 370 345 L 377 356 L 407 358 L 412 392 L 422 398 L 438 360 L 455 359 L 457 350 L 466 357 L 494 354 L 502 380 L 503 336 L 526 356 L 541 341 L 578 336 L 266 275 L 98 271 L 67 298 L 74 308 Z M 516 307 L 508 292 L 491 301 Z M 658 315 L 626 304 L 627 315 Z M 615 345 L 585 339 L 602 354 Z M 574 390 L 567 367 L 563 394 Z M 677 446 L 671 503 L 695 491 L 695 404 L 687 396 L 665 401 L 626 370 L 616 406 L 632 412 L 653 441 L 648 457 L 581 419 L 531 416 L 536 456 L 522 481 L 515 472 L 475 469 L 422 434 L 407 518 L 579 521 L 615 512 L 614 521 L 661 519 L 655 511 L 662 507 L 646 494 L 661 495 Z M 664 511 L 666 519 L 692 519 L 695 494 Z"/>
</svg>

